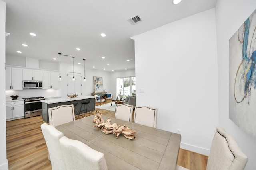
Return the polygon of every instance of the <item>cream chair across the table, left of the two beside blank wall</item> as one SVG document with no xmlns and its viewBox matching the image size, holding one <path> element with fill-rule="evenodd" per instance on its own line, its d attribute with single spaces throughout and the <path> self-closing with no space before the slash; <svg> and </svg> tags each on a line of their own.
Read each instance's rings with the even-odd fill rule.
<svg viewBox="0 0 256 170">
<path fill-rule="evenodd" d="M 128 104 L 116 104 L 115 118 L 132 122 L 133 106 Z"/>
</svg>

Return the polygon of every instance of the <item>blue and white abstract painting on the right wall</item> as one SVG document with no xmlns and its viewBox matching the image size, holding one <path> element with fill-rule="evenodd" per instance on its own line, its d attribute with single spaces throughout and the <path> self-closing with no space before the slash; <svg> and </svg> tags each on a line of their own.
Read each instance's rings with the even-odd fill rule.
<svg viewBox="0 0 256 170">
<path fill-rule="evenodd" d="M 229 118 L 256 139 L 256 10 L 229 40 Z"/>
</svg>

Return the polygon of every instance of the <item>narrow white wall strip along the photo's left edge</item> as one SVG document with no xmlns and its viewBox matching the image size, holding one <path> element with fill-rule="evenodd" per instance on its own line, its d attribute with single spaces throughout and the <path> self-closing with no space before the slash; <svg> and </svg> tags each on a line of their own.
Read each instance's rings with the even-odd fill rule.
<svg viewBox="0 0 256 170">
<path fill-rule="evenodd" d="M 0 77 L 5 79 L 5 10 L 6 3 L 0 0 Z M 0 94 L 5 92 L 5 83 L 0 83 Z M 0 170 L 8 170 L 6 155 L 6 109 L 5 96 L 0 95 Z"/>
</svg>

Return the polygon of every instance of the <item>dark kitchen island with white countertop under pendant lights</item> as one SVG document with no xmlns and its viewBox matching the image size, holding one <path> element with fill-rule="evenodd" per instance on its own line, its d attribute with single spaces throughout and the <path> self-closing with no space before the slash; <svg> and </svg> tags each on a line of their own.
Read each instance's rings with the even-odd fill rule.
<svg viewBox="0 0 256 170">
<path fill-rule="evenodd" d="M 89 106 L 92 109 L 91 111 L 95 110 L 95 96 L 77 96 L 76 98 L 56 98 L 56 99 L 46 99 L 46 100 L 41 100 L 42 102 L 42 117 L 43 121 L 46 123 L 49 123 L 49 115 L 48 115 L 48 109 L 52 107 L 57 107 L 60 105 L 69 105 L 72 103 L 77 103 L 76 110 L 79 113 L 80 108 L 82 106 L 81 102 L 90 100 Z M 87 109 L 89 109 L 87 107 Z"/>
</svg>

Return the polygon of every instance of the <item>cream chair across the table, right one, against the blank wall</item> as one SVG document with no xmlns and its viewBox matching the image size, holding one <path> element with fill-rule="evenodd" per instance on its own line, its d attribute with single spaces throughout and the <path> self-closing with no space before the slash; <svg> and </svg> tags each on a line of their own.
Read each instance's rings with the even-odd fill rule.
<svg viewBox="0 0 256 170">
<path fill-rule="evenodd" d="M 156 128 L 157 108 L 135 106 L 134 123 Z"/>
</svg>

